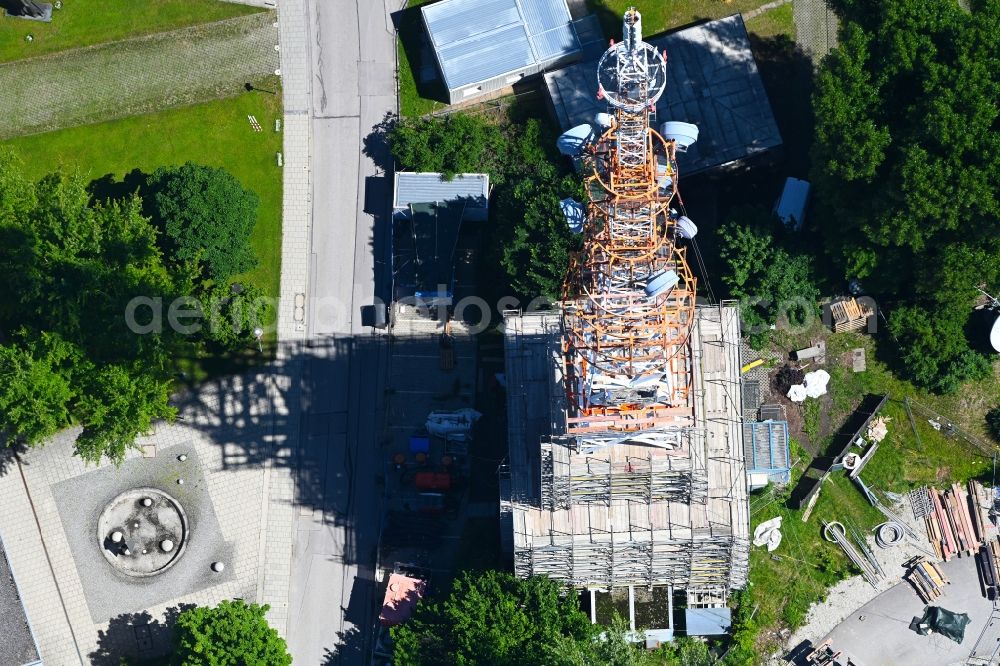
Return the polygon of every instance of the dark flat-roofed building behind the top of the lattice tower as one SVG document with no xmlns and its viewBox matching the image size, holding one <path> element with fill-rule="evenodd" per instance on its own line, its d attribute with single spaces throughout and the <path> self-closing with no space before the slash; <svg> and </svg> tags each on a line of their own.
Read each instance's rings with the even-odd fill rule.
<svg viewBox="0 0 1000 666">
<path fill-rule="evenodd" d="M 694 123 L 698 141 L 678 153 L 682 176 L 736 166 L 781 145 L 743 17 L 645 38 L 667 52 L 667 91 L 656 104 L 656 127 Z M 589 123 L 607 103 L 597 99 L 596 61 L 548 72 L 545 83 L 563 130 Z"/>
</svg>

